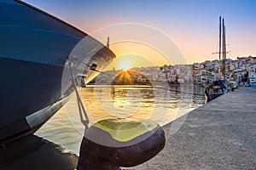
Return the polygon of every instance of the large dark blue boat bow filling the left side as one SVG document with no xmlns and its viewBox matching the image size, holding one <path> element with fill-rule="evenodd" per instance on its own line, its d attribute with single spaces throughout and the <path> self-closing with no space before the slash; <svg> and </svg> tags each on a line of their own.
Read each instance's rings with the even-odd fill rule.
<svg viewBox="0 0 256 170">
<path fill-rule="evenodd" d="M 65 105 L 69 71 L 87 83 L 115 58 L 84 31 L 18 0 L 0 1 L 0 44 L 1 145 L 34 133 Z"/>
</svg>

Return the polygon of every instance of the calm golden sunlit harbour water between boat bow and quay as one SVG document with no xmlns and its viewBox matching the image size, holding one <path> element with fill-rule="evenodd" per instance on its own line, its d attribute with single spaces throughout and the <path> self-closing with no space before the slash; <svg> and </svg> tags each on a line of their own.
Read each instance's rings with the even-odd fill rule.
<svg viewBox="0 0 256 170">
<path fill-rule="evenodd" d="M 80 88 L 79 95 L 90 119 L 90 124 L 108 118 L 152 120 L 161 126 L 172 122 L 205 103 L 202 88 L 150 86 L 88 86 Z M 41 127 L 36 135 L 55 144 L 64 151 L 79 156 L 84 134 L 76 94 Z"/>
</svg>

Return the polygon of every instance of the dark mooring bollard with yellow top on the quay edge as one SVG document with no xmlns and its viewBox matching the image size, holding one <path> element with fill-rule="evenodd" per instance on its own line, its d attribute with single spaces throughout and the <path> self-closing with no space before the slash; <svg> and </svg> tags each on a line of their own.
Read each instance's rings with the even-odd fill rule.
<svg viewBox="0 0 256 170">
<path fill-rule="evenodd" d="M 165 133 L 156 122 L 96 122 L 84 134 L 78 170 L 134 167 L 156 156 L 165 143 Z"/>
</svg>

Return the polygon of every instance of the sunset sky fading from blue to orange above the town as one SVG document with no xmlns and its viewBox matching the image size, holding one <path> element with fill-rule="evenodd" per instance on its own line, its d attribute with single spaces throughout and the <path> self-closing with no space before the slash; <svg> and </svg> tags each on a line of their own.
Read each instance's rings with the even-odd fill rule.
<svg viewBox="0 0 256 170">
<path fill-rule="evenodd" d="M 110 37 L 110 48 L 123 60 L 130 59 L 131 66 L 218 59 L 218 54 L 212 53 L 218 50 L 219 15 L 225 20 L 228 58 L 256 56 L 256 0 L 25 2 L 71 23 L 102 43 Z M 118 69 L 119 65 L 111 67 Z"/>
</svg>

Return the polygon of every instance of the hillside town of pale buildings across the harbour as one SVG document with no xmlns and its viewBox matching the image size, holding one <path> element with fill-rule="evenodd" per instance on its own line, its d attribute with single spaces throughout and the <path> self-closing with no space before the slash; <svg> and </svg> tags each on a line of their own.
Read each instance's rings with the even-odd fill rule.
<svg viewBox="0 0 256 170">
<path fill-rule="evenodd" d="M 163 65 L 153 67 L 132 68 L 128 70 L 129 81 L 138 84 L 148 82 L 164 83 L 178 82 L 180 84 L 193 84 L 204 86 L 207 82 L 224 79 L 227 82 L 233 81 L 238 84 L 256 85 L 256 57 L 237 57 L 235 60 L 226 59 L 225 74 L 219 77 L 219 66 L 223 68 L 222 62 L 207 60 L 192 65 Z M 122 70 L 104 71 L 96 79 L 95 83 L 126 83 L 126 76 L 120 77 Z M 120 79 L 123 79 L 120 81 Z"/>
</svg>

